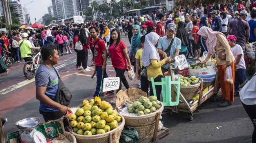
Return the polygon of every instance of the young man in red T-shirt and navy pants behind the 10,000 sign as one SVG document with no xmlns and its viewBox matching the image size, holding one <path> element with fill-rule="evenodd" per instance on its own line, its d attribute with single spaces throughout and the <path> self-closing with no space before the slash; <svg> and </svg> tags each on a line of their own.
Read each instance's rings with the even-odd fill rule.
<svg viewBox="0 0 256 143">
<path fill-rule="evenodd" d="M 99 97 L 102 90 L 103 79 L 108 77 L 106 73 L 107 57 L 102 58 L 102 54 L 107 55 L 107 50 L 105 47 L 105 42 L 102 39 L 98 38 L 98 28 L 90 27 L 89 30 L 91 38 L 93 38 L 92 46 L 94 48 L 94 62 L 97 75 L 96 91 L 93 97 Z M 110 95 L 111 93 L 114 93 L 114 91 L 108 91 L 105 95 Z"/>
</svg>

